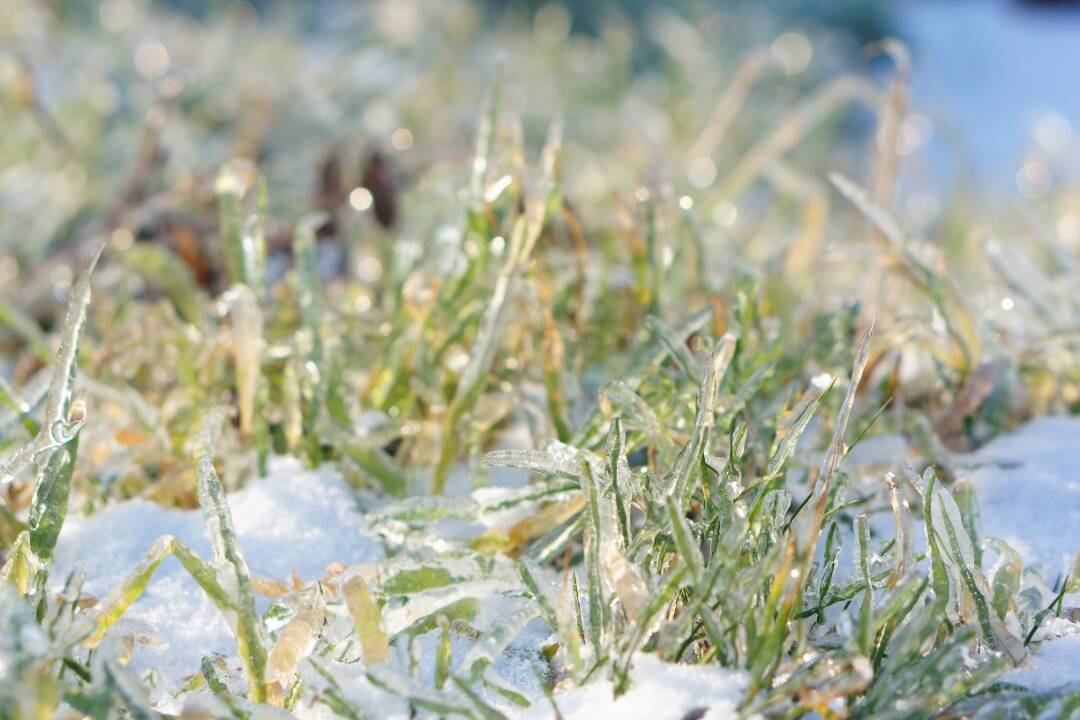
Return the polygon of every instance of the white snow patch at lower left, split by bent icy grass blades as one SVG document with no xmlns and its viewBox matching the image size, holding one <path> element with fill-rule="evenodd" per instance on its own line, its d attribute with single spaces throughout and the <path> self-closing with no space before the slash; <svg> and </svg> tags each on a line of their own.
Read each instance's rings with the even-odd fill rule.
<svg viewBox="0 0 1080 720">
<path fill-rule="evenodd" d="M 267 477 L 230 494 L 229 505 L 255 576 L 287 585 L 294 570 L 311 581 L 330 562 L 382 557 L 381 546 L 362 534 L 363 519 L 348 486 L 330 471 L 310 471 L 297 460 L 275 458 Z M 200 511 L 129 500 L 90 517 L 70 516 L 56 548 L 53 581 L 63 583 L 81 569 L 86 574 L 84 592 L 104 598 L 164 534 L 210 557 Z M 235 655 L 221 613 L 175 558 L 165 559 L 144 595 L 110 630 L 112 636 L 124 634 L 138 639 L 132 667 L 139 674 L 157 668 L 163 692 L 183 685 L 186 676 L 199 670 L 203 656 Z"/>
</svg>

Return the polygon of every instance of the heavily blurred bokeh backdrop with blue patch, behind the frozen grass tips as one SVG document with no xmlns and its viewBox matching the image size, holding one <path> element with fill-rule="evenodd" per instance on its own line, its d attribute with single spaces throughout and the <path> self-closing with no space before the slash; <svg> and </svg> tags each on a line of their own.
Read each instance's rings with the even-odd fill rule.
<svg viewBox="0 0 1080 720">
<path fill-rule="evenodd" d="M 180 210 L 200 235 L 217 168 L 238 157 L 266 174 L 272 216 L 375 205 L 419 253 L 457 202 L 492 93 L 525 147 L 565 121 L 578 202 L 657 187 L 706 200 L 724 226 L 733 206 L 706 191 L 725 158 L 825 81 L 887 84 L 893 62 L 869 44 L 885 37 L 910 54 L 896 207 L 912 228 L 973 195 L 1061 198 L 1077 166 L 1078 2 L 0 0 L 0 16 L 4 285 L 82 237 L 158 235 Z M 761 67 L 740 76 L 755 53 Z M 740 78 L 750 99 L 719 142 L 705 128 Z M 868 167 L 874 108 L 850 95 L 825 98 L 821 130 L 793 151 L 814 182 Z M 702 142 L 707 155 L 671 162 Z M 350 195 L 364 178 L 397 204 Z M 1080 242 L 1080 219 L 1058 215 Z"/>
</svg>

